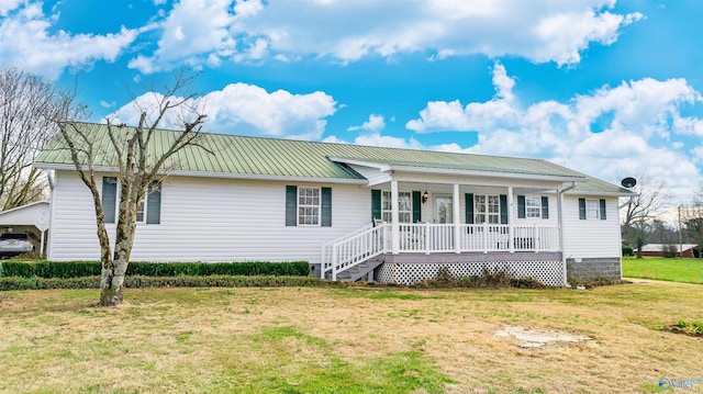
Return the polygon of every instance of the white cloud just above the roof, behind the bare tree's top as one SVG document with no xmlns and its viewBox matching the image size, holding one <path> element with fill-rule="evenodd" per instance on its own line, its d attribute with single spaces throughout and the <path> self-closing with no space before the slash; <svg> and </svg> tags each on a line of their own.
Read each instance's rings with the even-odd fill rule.
<svg viewBox="0 0 703 394">
<path fill-rule="evenodd" d="M 136 124 L 138 108 L 153 109 L 163 97 L 149 92 L 123 105 L 110 117 L 115 122 Z M 325 117 L 336 112 L 336 102 L 324 92 L 292 94 L 284 90 L 267 92 L 246 83 L 232 83 L 191 102 L 208 114 L 204 128 L 215 133 L 264 135 L 297 139 L 320 139 Z M 178 124 L 181 114 L 163 125 Z"/>
</svg>

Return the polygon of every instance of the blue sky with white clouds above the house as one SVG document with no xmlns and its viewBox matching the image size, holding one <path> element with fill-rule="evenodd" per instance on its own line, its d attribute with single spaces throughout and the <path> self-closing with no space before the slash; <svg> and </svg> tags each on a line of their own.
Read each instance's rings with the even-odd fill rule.
<svg viewBox="0 0 703 394">
<path fill-rule="evenodd" d="M 703 183 L 701 1 L 0 0 L 0 66 L 135 123 L 174 69 L 217 133 Z"/>
</svg>

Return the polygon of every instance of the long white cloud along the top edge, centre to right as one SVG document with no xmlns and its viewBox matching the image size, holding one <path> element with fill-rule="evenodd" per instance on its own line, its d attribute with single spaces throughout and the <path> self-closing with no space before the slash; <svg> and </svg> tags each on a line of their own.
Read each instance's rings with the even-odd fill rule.
<svg viewBox="0 0 703 394">
<path fill-rule="evenodd" d="M 130 67 L 148 74 L 183 61 L 312 55 L 348 63 L 413 52 L 431 59 L 483 54 L 570 65 L 592 43 L 610 45 L 644 18 L 613 13 L 613 7 L 610 0 L 412 0 L 402 7 L 386 0 L 182 0 L 160 24 L 158 48 Z"/>
</svg>

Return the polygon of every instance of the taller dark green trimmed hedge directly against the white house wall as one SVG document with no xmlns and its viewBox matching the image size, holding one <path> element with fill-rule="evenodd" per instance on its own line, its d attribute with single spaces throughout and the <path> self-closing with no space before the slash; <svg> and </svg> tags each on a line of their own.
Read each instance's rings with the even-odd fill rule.
<svg viewBox="0 0 703 394">
<path fill-rule="evenodd" d="M 0 278 L 83 278 L 100 275 L 99 261 L 4 261 L 0 263 Z M 127 278 L 144 277 L 209 277 L 209 275 L 281 275 L 306 277 L 306 261 L 268 262 L 130 262 Z"/>
</svg>

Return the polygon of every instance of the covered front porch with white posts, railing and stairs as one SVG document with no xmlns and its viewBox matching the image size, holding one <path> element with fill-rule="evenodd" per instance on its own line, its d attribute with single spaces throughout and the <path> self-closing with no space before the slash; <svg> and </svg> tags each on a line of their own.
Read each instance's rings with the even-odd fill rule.
<svg viewBox="0 0 703 394">
<path fill-rule="evenodd" d="M 481 267 L 522 277 L 547 270 L 545 284 L 566 283 L 562 181 L 435 178 L 372 185 L 371 223 L 323 247 L 321 277 L 337 280 L 350 270 L 356 275 L 347 280 L 364 272 L 371 279 L 382 266 L 377 279 L 410 283 L 448 264 L 457 274 L 480 273 Z"/>
</svg>

